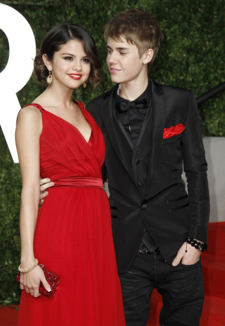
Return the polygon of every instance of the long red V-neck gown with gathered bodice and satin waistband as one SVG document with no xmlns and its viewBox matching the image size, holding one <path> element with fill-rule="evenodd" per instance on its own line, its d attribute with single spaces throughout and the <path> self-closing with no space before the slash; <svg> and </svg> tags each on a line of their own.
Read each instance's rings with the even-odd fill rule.
<svg viewBox="0 0 225 326">
<path fill-rule="evenodd" d="M 42 112 L 40 174 L 55 185 L 38 211 L 34 253 L 60 275 L 55 296 L 22 290 L 18 325 L 125 326 L 108 196 L 102 187 L 103 135 L 77 102 L 92 128 L 85 141 L 69 122 Z"/>
</svg>

